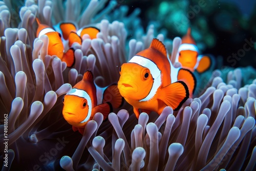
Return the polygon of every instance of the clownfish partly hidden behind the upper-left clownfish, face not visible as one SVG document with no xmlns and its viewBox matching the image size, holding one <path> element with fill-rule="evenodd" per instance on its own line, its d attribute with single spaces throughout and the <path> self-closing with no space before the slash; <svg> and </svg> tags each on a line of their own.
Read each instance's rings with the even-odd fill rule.
<svg viewBox="0 0 256 171">
<path fill-rule="evenodd" d="M 98 32 L 100 32 L 100 30 L 95 27 L 83 27 L 77 30 L 73 23 L 59 23 L 55 26 L 55 29 L 62 34 L 62 41 L 68 41 L 69 47 L 71 47 L 74 42 L 81 45 L 82 36 L 84 34 L 88 34 L 91 39 L 94 39 L 97 37 Z"/>
</svg>

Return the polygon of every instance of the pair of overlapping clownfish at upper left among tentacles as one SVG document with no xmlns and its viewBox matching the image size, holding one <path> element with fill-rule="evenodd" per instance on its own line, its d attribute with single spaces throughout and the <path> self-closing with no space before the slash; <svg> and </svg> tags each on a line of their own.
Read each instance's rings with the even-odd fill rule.
<svg viewBox="0 0 256 171">
<path fill-rule="evenodd" d="M 88 34 L 93 39 L 100 31 L 95 27 L 85 27 L 77 31 L 76 26 L 72 23 L 60 23 L 52 28 L 41 24 L 38 18 L 36 18 L 36 22 L 38 24 L 36 37 L 47 35 L 49 38 L 48 55 L 56 55 L 61 61 L 66 62 L 69 68 L 75 63 L 75 50 L 72 48 L 74 42 L 81 45 L 83 35 Z"/>
</svg>

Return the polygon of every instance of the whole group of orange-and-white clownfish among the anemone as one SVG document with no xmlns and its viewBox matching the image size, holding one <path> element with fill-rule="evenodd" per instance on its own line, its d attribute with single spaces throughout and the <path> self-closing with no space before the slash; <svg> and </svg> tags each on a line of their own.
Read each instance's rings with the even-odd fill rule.
<svg viewBox="0 0 256 171">
<path fill-rule="evenodd" d="M 67 67 L 72 67 L 75 62 L 72 45 L 81 45 L 85 34 L 93 39 L 100 32 L 95 27 L 77 30 L 72 23 L 59 23 L 52 28 L 36 20 L 36 36 L 47 35 L 48 54 L 59 57 Z M 211 65 L 210 57 L 199 55 L 190 28 L 182 37 L 175 62 L 181 67 L 174 67 L 164 44 L 154 38 L 150 47 L 121 65 L 117 84 L 100 88 L 94 82 L 92 71 L 84 73 L 82 80 L 63 97 L 62 115 L 73 131 L 83 134 L 85 125 L 97 112 L 106 119 L 113 108 L 122 106 L 124 100 L 133 106 L 137 119 L 141 112 L 160 115 L 166 106 L 177 111 L 189 97 L 193 97 L 197 85 L 194 72 L 205 72 Z"/>
</svg>

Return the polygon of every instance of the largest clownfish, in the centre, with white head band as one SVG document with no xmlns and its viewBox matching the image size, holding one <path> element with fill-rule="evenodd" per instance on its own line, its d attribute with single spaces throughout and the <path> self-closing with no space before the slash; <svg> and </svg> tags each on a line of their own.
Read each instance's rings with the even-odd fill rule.
<svg viewBox="0 0 256 171">
<path fill-rule="evenodd" d="M 172 73 L 174 70 L 165 46 L 156 38 L 149 48 L 137 53 L 119 68 L 118 89 L 133 106 L 137 118 L 139 109 L 143 112 L 155 111 L 160 115 L 165 106 L 179 110 L 189 98 L 189 85 L 183 81 L 185 78 L 177 80 L 177 75 L 173 74 L 178 74 L 178 71 Z"/>
</svg>

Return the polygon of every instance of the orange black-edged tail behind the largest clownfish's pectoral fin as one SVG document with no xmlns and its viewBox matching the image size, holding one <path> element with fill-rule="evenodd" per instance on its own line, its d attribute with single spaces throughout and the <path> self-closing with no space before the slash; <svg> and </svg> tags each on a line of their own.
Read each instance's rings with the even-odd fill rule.
<svg viewBox="0 0 256 171">
<path fill-rule="evenodd" d="M 177 79 L 182 80 L 187 84 L 189 97 L 192 97 L 197 87 L 197 79 L 195 75 L 191 71 L 181 68 L 178 72 Z"/>
</svg>

